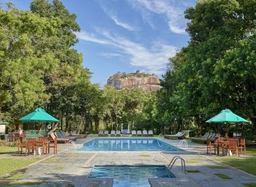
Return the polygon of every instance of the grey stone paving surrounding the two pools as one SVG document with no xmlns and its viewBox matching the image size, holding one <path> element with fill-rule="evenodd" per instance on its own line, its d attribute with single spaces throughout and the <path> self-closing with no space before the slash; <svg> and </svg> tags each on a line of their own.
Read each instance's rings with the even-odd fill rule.
<svg viewBox="0 0 256 187">
<path fill-rule="evenodd" d="M 166 140 L 158 138 L 173 146 L 177 146 L 180 140 Z M 93 138 L 78 139 L 76 144 L 82 144 Z M 112 186 L 112 178 L 86 178 L 88 172 L 95 165 L 165 165 L 167 166 L 172 157 L 180 155 L 186 162 L 187 171 L 184 172 L 177 161 L 172 168 L 176 178 L 149 178 L 151 186 L 244 186 L 243 183 L 256 183 L 256 176 L 248 174 L 231 166 L 223 165 L 212 160 L 214 156 L 206 154 L 205 144 L 197 144 L 188 141 L 188 149 L 174 152 L 93 152 L 67 149 L 66 144 L 58 144 L 57 155 L 43 155 L 43 159 L 26 168 L 15 171 L 0 178 L 0 186 L 10 182 L 8 177 L 17 173 L 23 176 L 19 182 L 41 182 L 34 186 Z M 11 157 L 5 155 L 3 157 Z M 23 156 L 22 156 L 23 157 Z M 34 155 L 30 155 L 34 157 Z M 212 168 L 212 166 L 222 166 Z M 225 174 L 230 180 L 222 180 L 215 174 Z M 22 186 L 22 185 L 16 185 Z"/>
</svg>

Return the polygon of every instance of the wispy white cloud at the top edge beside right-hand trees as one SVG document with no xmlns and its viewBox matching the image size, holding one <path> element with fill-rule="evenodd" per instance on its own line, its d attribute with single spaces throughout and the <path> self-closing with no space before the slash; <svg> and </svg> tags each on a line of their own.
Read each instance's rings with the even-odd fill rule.
<svg viewBox="0 0 256 187">
<path fill-rule="evenodd" d="M 141 11 L 141 15 L 145 21 L 152 25 L 149 13 L 165 15 L 168 22 L 169 30 L 173 33 L 186 34 L 186 19 L 183 16 L 185 5 L 177 6 L 175 1 L 166 0 L 127 0 L 132 7 Z M 146 19 L 145 19 L 146 18 Z"/>
</svg>

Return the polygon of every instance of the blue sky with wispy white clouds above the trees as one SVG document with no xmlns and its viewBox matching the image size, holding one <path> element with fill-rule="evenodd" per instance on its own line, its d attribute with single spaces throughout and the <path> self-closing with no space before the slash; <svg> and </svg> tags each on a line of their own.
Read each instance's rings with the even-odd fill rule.
<svg viewBox="0 0 256 187">
<path fill-rule="evenodd" d="M 29 10 L 29 0 L 13 2 Z M 93 72 L 92 83 L 101 85 L 116 72 L 141 70 L 165 73 L 168 58 L 187 46 L 187 20 L 183 12 L 192 0 L 63 0 L 77 15 L 81 32 L 75 48 L 84 55 L 84 67 Z"/>
</svg>

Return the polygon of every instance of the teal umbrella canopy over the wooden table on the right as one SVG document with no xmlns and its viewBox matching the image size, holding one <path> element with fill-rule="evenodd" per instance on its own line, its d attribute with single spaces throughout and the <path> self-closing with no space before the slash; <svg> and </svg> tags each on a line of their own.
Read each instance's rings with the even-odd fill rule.
<svg viewBox="0 0 256 187">
<path fill-rule="evenodd" d="M 234 114 L 231 110 L 221 110 L 221 113 L 205 121 L 207 123 L 248 123 L 249 121 Z"/>
</svg>

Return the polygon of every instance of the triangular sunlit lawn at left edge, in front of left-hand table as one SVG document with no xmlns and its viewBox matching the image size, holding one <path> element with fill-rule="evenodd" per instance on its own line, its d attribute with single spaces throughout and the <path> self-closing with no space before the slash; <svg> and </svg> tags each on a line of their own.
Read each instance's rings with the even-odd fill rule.
<svg viewBox="0 0 256 187">
<path fill-rule="evenodd" d="M 0 159 L 0 176 L 9 174 L 17 169 L 23 168 L 24 166 L 30 165 L 40 158 L 1 158 Z"/>
</svg>

